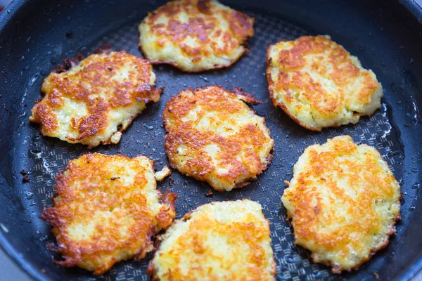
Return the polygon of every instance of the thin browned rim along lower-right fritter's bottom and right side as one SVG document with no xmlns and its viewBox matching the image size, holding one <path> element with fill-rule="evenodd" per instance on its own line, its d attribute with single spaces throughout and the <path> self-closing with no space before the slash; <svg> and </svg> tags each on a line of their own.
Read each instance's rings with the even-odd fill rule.
<svg viewBox="0 0 422 281">
<path fill-rule="evenodd" d="M 371 148 L 373 148 L 373 149 L 375 149 L 378 153 L 380 153 L 379 152 L 379 150 L 378 149 L 376 149 L 376 148 L 374 148 L 373 146 L 371 146 Z M 381 153 L 380 153 L 380 155 L 381 155 Z M 388 167 L 390 167 L 389 165 L 388 165 L 388 162 L 387 161 L 385 161 L 385 159 L 383 158 L 383 157 L 381 157 L 382 159 L 383 159 L 383 161 L 385 162 L 385 164 L 387 164 L 387 166 Z M 390 168 L 389 168 L 390 169 Z M 394 176 L 394 175 L 393 175 Z M 293 178 L 292 178 L 293 179 Z M 396 180 L 397 181 L 397 180 Z M 291 180 L 290 180 L 290 182 L 291 182 Z M 290 186 L 290 182 L 286 182 L 285 181 L 285 183 L 286 183 L 286 185 L 288 185 L 288 186 Z M 286 189 L 285 189 L 286 190 Z M 401 190 L 401 188 L 400 188 L 400 198 L 399 198 L 399 203 L 400 203 L 400 209 L 401 209 L 401 201 L 402 201 L 402 197 L 403 197 L 403 193 L 402 193 L 402 190 Z M 285 208 L 286 209 L 286 208 Z M 304 249 L 306 249 L 307 251 L 309 251 L 309 252 L 311 252 L 311 258 L 312 258 L 312 261 L 314 262 L 314 263 L 322 263 L 322 264 L 325 264 L 326 266 L 330 266 L 332 269 L 332 272 L 334 273 L 334 274 L 341 274 L 343 271 L 346 271 L 346 272 L 352 272 L 352 270 L 358 270 L 361 266 L 363 266 L 364 265 L 364 263 L 366 263 L 367 261 L 369 261 L 371 258 L 372 258 L 372 256 L 374 256 L 378 251 L 381 251 L 382 249 L 385 249 L 387 246 L 388 246 L 388 243 L 390 242 L 390 237 L 392 236 L 392 235 L 396 235 L 396 228 L 395 228 L 395 226 L 396 226 L 396 224 L 400 221 L 402 219 L 402 214 L 400 214 L 400 211 L 399 211 L 399 214 L 397 214 L 397 216 L 395 217 L 395 221 L 393 221 L 393 223 L 392 223 L 392 226 L 391 226 L 391 228 L 390 228 L 390 231 L 387 233 L 387 237 L 385 237 L 385 240 L 384 240 L 384 242 L 383 242 L 383 244 L 381 244 L 380 245 L 380 247 L 378 247 L 378 248 L 374 248 L 374 249 L 371 249 L 371 251 L 369 252 L 369 255 L 368 256 L 366 256 L 366 259 L 364 259 L 361 263 L 359 263 L 357 266 L 354 266 L 354 267 L 352 267 L 352 268 L 350 268 L 350 270 L 341 270 L 341 268 L 339 268 L 339 267 L 336 267 L 333 263 L 329 263 L 329 262 L 326 262 L 326 261 L 319 261 L 318 259 L 316 259 L 315 258 L 315 256 L 314 256 L 314 254 L 312 253 L 312 251 L 310 251 L 310 250 L 308 250 L 308 249 L 306 249 L 305 247 L 302 247 L 302 246 L 300 246 L 300 245 L 298 245 L 298 246 L 300 246 L 300 247 L 302 247 L 302 248 L 304 248 Z M 288 221 L 290 221 L 290 225 L 292 226 L 292 228 L 293 228 L 293 233 L 294 233 L 294 226 L 293 226 L 293 223 L 291 223 L 291 221 L 292 221 L 292 217 L 290 217 L 290 216 L 288 216 L 287 215 L 287 220 Z M 295 235 L 295 240 L 294 240 L 294 242 L 295 242 L 295 244 L 297 244 L 296 243 L 296 235 Z"/>
</svg>

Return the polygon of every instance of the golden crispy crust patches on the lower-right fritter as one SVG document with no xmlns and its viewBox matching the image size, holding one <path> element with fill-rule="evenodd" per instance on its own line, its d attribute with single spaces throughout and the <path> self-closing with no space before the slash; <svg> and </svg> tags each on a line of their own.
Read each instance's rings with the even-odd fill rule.
<svg viewBox="0 0 422 281">
<path fill-rule="evenodd" d="M 343 138 L 343 139 L 340 139 Z M 289 183 L 289 188 L 287 188 L 284 192 L 283 197 L 287 197 L 287 200 L 291 202 L 294 206 L 294 215 L 295 221 L 292 222 L 293 228 L 295 230 L 295 244 L 299 244 L 300 246 L 305 247 L 304 243 L 306 244 L 308 241 L 313 241 L 315 244 L 318 245 L 319 251 L 324 251 L 325 249 L 338 249 L 339 245 L 344 245 L 346 247 L 347 242 L 350 240 L 348 236 L 349 233 L 359 233 L 362 236 L 369 235 L 369 230 L 371 230 L 374 226 L 378 228 L 385 222 L 381 221 L 381 214 L 375 214 L 372 209 L 373 198 L 383 198 L 383 200 L 388 200 L 388 202 L 395 202 L 400 204 L 400 200 L 402 197 L 401 191 L 399 192 L 399 197 L 397 197 L 397 202 L 395 201 L 396 196 L 395 190 L 392 188 L 392 185 L 398 185 L 397 181 L 395 180 L 394 176 L 390 174 L 385 174 L 385 171 L 378 166 L 377 161 L 378 159 L 373 156 L 369 155 L 369 152 L 365 157 L 365 162 L 363 163 L 362 160 L 360 162 L 353 162 L 352 160 L 346 159 L 343 162 L 338 163 L 336 157 L 349 157 L 350 155 L 354 155 L 357 153 L 357 145 L 355 145 L 352 140 L 345 139 L 344 136 L 334 138 L 333 145 L 331 150 L 321 150 L 321 152 L 317 152 L 316 150 L 312 149 L 309 150 L 309 166 L 307 168 L 303 168 L 300 173 L 294 174 L 293 177 L 296 178 L 295 181 L 295 189 L 290 190 L 291 181 Z M 333 149 L 335 148 L 335 149 Z M 373 148 L 373 150 L 376 150 Z M 376 150 L 378 151 L 378 150 Z M 378 152 L 378 155 L 379 154 Z M 385 159 L 383 162 L 388 166 Z M 333 181 L 333 178 L 326 178 L 327 174 L 324 174 L 325 171 L 331 171 L 336 177 L 340 178 L 340 175 L 345 170 L 345 166 L 347 166 L 347 173 L 353 173 L 353 181 L 359 182 L 361 184 L 362 178 L 358 178 L 355 175 L 359 174 L 359 171 L 366 171 L 365 180 L 369 184 L 369 186 L 376 186 L 376 188 L 368 188 L 367 190 L 359 190 L 357 198 L 352 199 L 352 197 L 345 195 L 345 192 L 342 191 L 341 188 L 338 187 Z M 352 176 L 350 176 L 352 178 Z M 292 180 L 293 181 L 293 180 Z M 332 193 L 333 198 L 330 199 L 323 198 L 321 192 L 318 192 L 318 189 L 315 188 L 317 181 L 319 185 L 327 185 L 330 186 L 330 190 Z M 358 183 L 353 183 L 357 185 Z M 325 200 L 324 200 L 325 199 Z M 316 200 L 316 203 L 314 203 Z M 335 232 L 335 230 L 326 230 L 319 233 L 317 230 L 319 229 L 319 223 L 324 221 L 325 224 L 335 224 L 339 218 L 336 217 L 336 214 L 333 214 L 333 209 L 329 209 L 327 206 L 327 202 L 331 202 L 331 200 L 343 200 L 343 204 L 347 206 L 347 214 L 349 216 L 353 216 L 354 218 L 362 218 L 361 221 L 350 221 L 347 223 L 347 231 L 344 230 L 341 233 Z M 338 203 L 333 203 L 338 204 Z M 354 205 L 359 205 L 359 208 L 354 207 Z M 353 206 L 353 207 L 351 207 Z M 346 208 L 346 207 L 345 207 Z M 324 212 L 321 212 L 324 210 Z M 350 213 L 352 211 L 352 213 Z M 372 216 L 368 218 L 366 214 L 371 212 Z M 320 216 L 320 214 L 326 214 L 325 216 Z M 332 214 L 332 215 L 328 215 Z M 376 254 L 377 251 L 384 249 L 388 246 L 390 241 L 390 236 L 395 235 L 396 229 L 395 225 L 397 221 L 399 221 L 401 215 L 399 211 L 397 215 L 394 217 L 394 221 L 390 225 L 389 230 L 387 231 L 385 237 L 383 237 L 382 243 L 379 247 L 374 247 L 373 249 L 369 249 L 368 256 L 362 258 L 356 266 L 353 266 L 350 269 L 342 268 L 339 264 L 334 264 L 331 261 L 326 261 L 324 259 L 319 259 L 317 254 L 312 253 L 311 257 L 315 263 L 324 263 L 327 266 L 332 267 L 333 273 L 340 274 L 342 271 L 352 271 L 359 269 L 366 261 L 369 261 L 371 257 Z M 288 211 L 288 220 L 292 221 L 292 217 L 290 212 Z M 340 221 L 341 222 L 341 221 Z M 384 230 L 383 230 L 384 231 Z M 360 238 L 359 238 L 360 239 Z M 359 240 L 361 244 L 358 246 L 354 245 L 356 251 L 359 247 L 365 247 L 366 240 L 362 239 Z M 357 244 L 357 241 L 352 240 L 353 244 Z M 316 247 L 316 246 L 313 246 Z M 367 247 L 371 247 L 368 245 Z M 359 249 L 360 250 L 360 249 Z M 360 256 L 359 256 L 360 258 Z"/>
</svg>

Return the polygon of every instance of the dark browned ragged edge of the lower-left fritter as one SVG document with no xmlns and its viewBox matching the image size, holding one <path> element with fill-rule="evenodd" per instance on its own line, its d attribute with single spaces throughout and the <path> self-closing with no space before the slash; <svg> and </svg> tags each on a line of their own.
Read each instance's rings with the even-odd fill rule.
<svg viewBox="0 0 422 281">
<path fill-rule="evenodd" d="M 91 155 L 91 152 L 87 153 L 89 155 Z M 80 157 L 82 157 L 83 155 L 81 155 Z M 124 156 L 124 155 L 120 155 L 123 157 L 126 157 L 128 159 L 132 159 L 130 157 Z M 74 160 L 74 159 L 72 159 Z M 63 181 L 65 180 L 65 176 L 64 173 L 65 171 L 68 170 L 68 166 L 70 164 L 70 162 L 72 162 L 72 160 L 70 160 L 66 166 L 65 169 L 63 169 L 62 171 L 58 172 L 58 175 L 56 176 L 56 183 L 53 185 L 53 190 L 54 190 L 54 195 L 58 195 L 58 193 L 56 192 L 56 186 L 60 186 L 63 185 Z M 151 161 L 151 164 L 153 164 L 153 161 L 151 159 L 149 159 Z M 162 195 L 162 193 L 160 192 L 160 190 L 156 189 L 156 191 L 158 192 L 158 200 L 161 204 L 165 204 L 166 206 L 169 207 L 169 209 L 167 209 L 167 211 L 172 210 L 175 212 L 175 205 L 174 202 L 177 200 L 177 194 L 174 192 L 168 192 L 168 189 L 166 190 L 165 194 Z M 55 197 L 50 197 L 51 201 L 53 202 L 53 207 L 56 206 L 56 201 L 55 201 Z M 60 230 L 58 229 L 58 226 L 60 226 L 60 218 L 58 218 L 56 211 L 53 209 L 53 207 L 44 207 L 44 209 L 41 211 L 41 220 L 45 221 L 46 223 L 49 223 L 51 225 L 51 233 L 53 233 L 54 237 L 56 237 L 55 232 L 56 230 L 59 232 Z M 162 214 L 162 210 L 160 210 L 160 212 L 157 214 L 156 218 L 159 217 Z M 169 226 L 170 227 L 170 226 Z M 159 230 L 160 231 L 164 231 L 165 229 Z M 146 251 L 146 248 L 153 244 L 153 237 L 155 237 L 155 235 L 157 234 L 157 229 L 153 229 L 151 230 L 150 233 L 148 233 L 146 235 L 146 245 L 145 247 L 142 247 L 137 253 L 134 254 L 133 258 L 135 261 L 139 261 L 141 259 L 143 259 L 146 254 L 148 254 L 149 251 Z M 63 247 L 60 247 L 60 244 L 58 244 L 57 241 L 55 242 L 49 242 L 46 244 L 47 249 L 49 249 L 49 251 L 53 251 L 56 253 L 60 253 L 62 254 L 61 256 L 61 260 L 56 260 L 56 259 L 52 259 L 53 263 L 56 263 L 58 266 L 62 266 L 65 268 L 72 268 L 77 266 L 81 261 L 82 261 L 82 257 L 79 257 L 79 259 L 73 259 L 70 256 L 65 256 L 63 255 Z M 132 257 L 129 257 L 127 259 L 132 259 Z M 125 259 L 125 260 L 127 260 Z M 115 262 L 113 262 L 114 265 Z M 103 273 L 105 273 L 108 270 L 101 270 L 101 268 L 98 268 L 95 272 L 94 275 L 101 275 Z"/>
</svg>

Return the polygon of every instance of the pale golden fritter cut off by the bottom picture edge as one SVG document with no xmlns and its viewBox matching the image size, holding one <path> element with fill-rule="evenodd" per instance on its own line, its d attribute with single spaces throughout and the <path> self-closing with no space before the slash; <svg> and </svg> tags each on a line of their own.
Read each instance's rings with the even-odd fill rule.
<svg viewBox="0 0 422 281">
<path fill-rule="evenodd" d="M 212 202 L 175 221 L 148 266 L 153 280 L 275 280 L 269 223 L 250 200 Z"/>
</svg>

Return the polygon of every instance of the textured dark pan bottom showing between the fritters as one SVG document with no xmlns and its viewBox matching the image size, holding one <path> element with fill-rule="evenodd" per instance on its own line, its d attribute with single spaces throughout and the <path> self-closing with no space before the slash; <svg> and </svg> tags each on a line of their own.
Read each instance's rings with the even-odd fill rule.
<svg viewBox="0 0 422 281">
<path fill-rule="evenodd" d="M 174 67 L 155 66 L 157 84 L 165 87 L 160 102 L 148 105 L 148 108 L 123 133 L 119 145 L 100 146 L 91 152 L 101 152 L 107 155 L 121 153 L 130 157 L 146 155 L 156 159 L 155 167 L 160 169 L 168 164 L 164 150 L 163 136 L 165 132 L 161 117 L 165 103 L 170 97 L 189 86 L 195 88 L 196 86 L 221 84 L 229 90 L 234 86 L 243 88 L 244 91 L 252 93 L 257 100 L 264 102 L 264 104 L 253 106 L 253 108 L 258 115 L 265 117 L 271 136 L 275 141 L 276 152 L 269 169 L 258 176 L 257 181 L 253 181 L 241 190 L 215 192 L 210 197 L 205 196 L 210 190 L 209 186 L 192 178 L 181 176 L 177 171 L 173 172 L 171 181 L 167 179 L 160 186 L 165 190 L 171 184 L 170 190 L 179 195 L 176 202 L 177 218 L 181 218 L 186 212 L 195 209 L 200 204 L 212 201 L 249 198 L 260 202 L 264 215 L 270 221 L 272 247 L 277 263 L 277 280 L 333 279 L 335 275 L 331 274 L 329 268 L 312 263 L 309 253 L 301 247 L 296 247 L 293 243 L 293 229 L 286 221 L 286 210 L 280 202 L 280 197 L 286 188 L 283 181 L 290 181 L 293 164 L 308 145 L 324 143 L 327 138 L 342 134 L 352 136 L 356 143 L 367 143 L 380 150 L 390 164 L 393 174 L 399 180 L 403 174 L 402 158 L 404 157 L 404 147 L 399 139 L 400 133 L 389 117 L 391 107 L 385 103 L 373 117 L 364 117 L 355 126 L 324 129 L 321 133 L 316 133 L 302 129 L 295 124 L 281 110 L 276 109 L 269 100 L 265 77 L 265 55 L 267 47 L 276 41 L 295 39 L 305 34 L 314 34 L 314 32 L 302 30 L 302 28 L 284 22 L 273 15 L 256 11 L 245 12 L 255 17 L 255 37 L 249 42 L 249 54 L 245 54 L 233 67 L 202 74 L 185 74 Z M 141 18 L 139 18 L 140 21 Z M 88 50 L 94 50 L 96 46 L 110 44 L 114 50 L 125 50 L 134 55 L 141 55 L 138 49 L 137 25 L 138 22 L 134 22 L 116 29 L 115 32 L 107 34 L 100 41 L 93 42 L 92 46 L 80 48 L 80 51 L 87 55 Z M 333 39 L 335 40 L 335 38 Z M 342 42 L 338 43 L 342 44 Z M 75 53 L 69 55 L 75 55 Z M 352 51 L 351 53 L 359 57 L 359 53 Z M 361 60 L 364 67 L 371 68 L 371 65 L 365 64 L 364 58 Z M 378 78 L 383 82 L 382 77 Z M 383 102 L 385 101 L 384 98 Z M 70 145 L 53 138 L 42 138 L 39 132 L 34 133 L 36 132 L 35 126 L 28 127 L 32 136 L 23 145 L 23 151 L 16 153 L 28 157 L 27 170 L 31 171 L 27 192 L 22 195 L 23 202 L 27 205 L 28 211 L 39 216 L 42 207 L 51 205 L 49 198 L 53 195 L 53 178 L 57 171 L 63 169 L 70 159 L 79 157 L 89 150 L 82 145 Z M 42 203 L 42 206 L 39 202 Z M 39 220 L 37 216 L 34 216 L 34 220 Z M 40 251 L 47 251 L 46 243 L 54 242 L 49 233 L 49 226 L 34 221 L 32 228 L 34 228 L 34 233 L 37 233 L 34 235 L 34 239 L 39 240 Z M 140 262 L 127 261 L 117 264 L 104 278 L 105 280 L 148 280 L 146 266 L 150 259 L 151 254 Z M 382 266 L 383 263 L 379 263 L 373 268 L 381 270 Z M 368 266 L 364 266 L 361 270 L 366 270 L 366 267 Z M 366 275 L 373 277 L 372 273 L 375 271 L 373 268 L 371 271 L 368 270 Z M 75 277 L 84 276 L 84 280 L 92 277 L 91 273 L 78 268 L 63 270 L 67 270 L 68 274 Z M 356 277 L 356 275 L 345 274 L 343 277 L 348 279 Z"/>
</svg>

